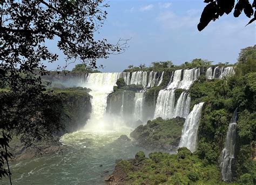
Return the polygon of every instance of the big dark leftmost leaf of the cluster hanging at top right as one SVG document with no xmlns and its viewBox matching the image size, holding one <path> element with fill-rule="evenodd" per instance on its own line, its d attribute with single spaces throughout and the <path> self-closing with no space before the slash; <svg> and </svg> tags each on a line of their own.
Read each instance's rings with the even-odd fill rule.
<svg viewBox="0 0 256 185">
<path fill-rule="evenodd" d="M 219 11 L 216 2 L 207 4 L 201 14 L 200 22 L 197 25 L 199 31 L 203 30 L 211 20 L 216 20 L 219 17 Z"/>
</svg>

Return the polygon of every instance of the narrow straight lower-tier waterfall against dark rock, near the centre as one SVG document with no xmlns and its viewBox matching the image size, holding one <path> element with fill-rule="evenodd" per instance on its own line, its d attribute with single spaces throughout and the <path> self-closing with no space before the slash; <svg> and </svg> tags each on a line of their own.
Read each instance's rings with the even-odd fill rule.
<svg viewBox="0 0 256 185">
<path fill-rule="evenodd" d="M 134 97 L 134 118 L 137 120 L 143 120 L 143 104 L 144 104 L 144 93 L 135 93 Z"/>
</svg>

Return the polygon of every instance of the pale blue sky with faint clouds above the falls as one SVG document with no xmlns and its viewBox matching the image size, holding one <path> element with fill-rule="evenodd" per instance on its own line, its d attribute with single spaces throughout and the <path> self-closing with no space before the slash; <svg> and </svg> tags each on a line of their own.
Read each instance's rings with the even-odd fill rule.
<svg viewBox="0 0 256 185">
<path fill-rule="evenodd" d="M 119 38 L 130 40 L 124 53 L 97 60 L 104 66 L 102 72 L 121 72 L 129 65 L 149 66 L 153 61 L 171 60 L 179 65 L 194 58 L 233 64 L 240 49 L 256 43 L 255 23 L 245 26 L 250 19 L 244 12 L 239 18 L 234 18 L 233 12 L 224 15 L 199 32 L 197 24 L 206 5 L 203 0 L 109 0 L 108 4 L 107 19 L 95 38 L 106 38 L 111 44 Z M 59 54 L 59 60 L 48 64 L 48 69 L 64 66 L 65 56 L 54 41 L 49 49 Z"/>
</svg>

